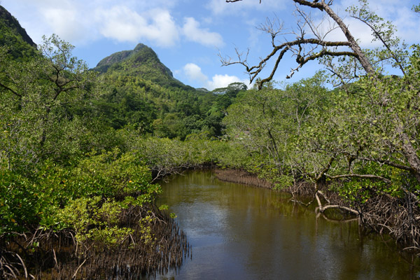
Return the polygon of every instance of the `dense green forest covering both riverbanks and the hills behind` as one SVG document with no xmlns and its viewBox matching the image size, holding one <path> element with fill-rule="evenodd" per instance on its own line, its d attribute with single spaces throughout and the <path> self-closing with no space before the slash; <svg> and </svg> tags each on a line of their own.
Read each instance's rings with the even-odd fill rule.
<svg viewBox="0 0 420 280">
<path fill-rule="evenodd" d="M 224 4 L 242 1 L 258 2 Z M 90 69 L 71 42 L 52 34 L 34 43 L 0 6 L 0 279 L 214 279 L 210 272 L 177 276 L 200 257 L 197 230 L 188 232 L 183 211 L 160 198 L 171 200 L 174 178 L 195 178 L 193 171 L 248 184 L 246 194 L 261 188 L 279 195 L 269 205 L 276 211 L 351 225 L 351 239 L 392 244 L 398 257 L 388 258 L 411 270 L 388 279 L 419 279 L 420 45 L 400 40 L 370 1 L 346 10 L 372 33 L 378 46 L 369 49 L 334 1 L 291 1 L 300 17 L 294 38 L 284 40 L 281 25 L 267 20 L 259 29 L 272 49 L 257 63 L 239 51 L 215 57 L 221 66 L 240 66 L 250 84 L 214 90 L 174 78 L 144 43 Z M 318 31 L 311 11 L 335 22 L 344 39 Z M 420 16 L 420 4 L 411 11 Z M 293 57 L 290 73 L 274 80 L 286 55 Z M 288 83 L 314 61 L 320 69 Z M 203 209 L 206 221 L 212 212 Z M 270 227 L 264 219 L 255 230 Z M 304 279 L 282 275 L 237 279 Z M 310 275 L 305 279 L 328 279 Z"/>
</svg>

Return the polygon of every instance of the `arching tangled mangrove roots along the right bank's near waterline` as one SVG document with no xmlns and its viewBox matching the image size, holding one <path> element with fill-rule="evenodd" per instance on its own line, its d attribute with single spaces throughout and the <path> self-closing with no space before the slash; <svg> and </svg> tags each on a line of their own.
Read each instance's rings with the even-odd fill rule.
<svg viewBox="0 0 420 280">
<path fill-rule="evenodd" d="M 357 217 L 360 225 L 381 235 L 390 235 L 405 251 L 420 255 L 420 208 L 412 195 L 391 197 L 372 191 L 370 199 L 351 204 L 342 200 L 338 193 L 328 190 L 328 186 L 321 186 L 318 190 L 311 184 L 300 183 L 290 189 L 293 200 L 299 195 L 310 195 L 318 202 L 317 212 L 324 214 L 327 209 L 345 211 Z"/>
</svg>

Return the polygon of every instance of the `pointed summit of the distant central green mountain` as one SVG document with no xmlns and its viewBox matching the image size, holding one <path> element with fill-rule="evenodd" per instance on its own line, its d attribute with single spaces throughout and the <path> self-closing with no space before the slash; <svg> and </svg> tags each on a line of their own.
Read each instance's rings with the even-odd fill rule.
<svg viewBox="0 0 420 280">
<path fill-rule="evenodd" d="M 123 50 L 105 57 L 93 70 L 99 73 L 139 76 L 164 87 L 181 87 L 193 90 L 193 87 L 176 80 L 172 71 L 160 62 L 156 52 L 143 43 L 139 43 L 134 50 Z"/>
</svg>

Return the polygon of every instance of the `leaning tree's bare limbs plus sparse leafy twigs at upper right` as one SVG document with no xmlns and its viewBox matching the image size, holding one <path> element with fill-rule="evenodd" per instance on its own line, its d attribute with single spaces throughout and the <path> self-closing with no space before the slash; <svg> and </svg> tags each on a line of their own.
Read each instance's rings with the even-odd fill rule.
<svg viewBox="0 0 420 280">
<path fill-rule="evenodd" d="M 238 2 L 244 0 L 226 0 L 226 2 Z M 348 29 L 347 25 L 344 23 L 342 18 L 340 18 L 337 13 L 332 10 L 333 0 L 330 1 L 305 1 L 305 0 L 292 0 L 296 6 L 296 13 L 299 15 L 299 19 L 297 21 L 297 30 L 293 31 L 293 35 L 295 38 L 290 41 L 282 41 L 281 43 L 277 43 L 277 39 L 280 36 L 286 36 L 289 32 L 283 30 L 283 24 L 279 22 L 278 19 L 275 20 L 268 20 L 265 22 L 264 25 L 260 25 L 259 29 L 262 31 L 267 32 L 271 36 L 271 43 L 272 43 L 272 52 L 268 55 L 263 57 L 258 64 L 251 66 L 248 64 L 247 57 L 248 52 L 246 55 L 242 55 L 239 50 L 237 50 L 237 57 L 236 61 L 232 60 L 230 57 L 221 57 L 221 62 L 223 65 L 230 65 L 230 64 L 242 64 L 245 66 L 246 71 L 250 76 L 251 82 L 258 77 L 262 69 L 265 68 L 267 62 L 274 60 L 274 66 L 267 78 L 262 78 L 258 80 L 258 86 L 262 87 L 263 83 L 266 83 L 269 80 L 272 80 L 274 73 L 278 69 L 278 66 L 286 55 L 287 52 L 290 52 L 293 57 L 295 57 L 295 61 L 297 66 L 292 69 L 291 73 L 286 77 L 290 78 L 293 76 L 295 71 L 298 71 L 304 64 L 307 62 L 321 59 L 321 58 L 334 58 L 334 57 L 350 57 L 351 59 L 356 59 L 358 64 L 361 66 L 363 71 L 368 75 L 373 75 L 377 68 L 374 67 L 375 61 L 372 54 L 368 55 L 365 51 L 360 48 L 356 38 L 351 34 L 350 30 Z M 261 2 L 261 1 L 260 1 Z M 303 7 L 308 7 L 315 10 L 320 10 L 324 13 L 325 17 L 335 22 L 335 26 L 327 31 L 323 31 L 321 29 L 321 25 L 316 25 L 314 20 L 311 19 L 309 13 L 305 12 Z M 381 18 L 377 15 L 372 13 L 368 10 L 367 1 L 361 0 L 360 1 L 360 8 L 351 7 L 349 12 L 354 18 L 358 18 L 358 20 L 362 20 L 367 24 L 368 27 L 372 29 L 372 33 L 374 34 L 374 38 L 382 41 L 385 43 L 385 47 L 388 49 L 389 52 L 392 52 L 391 48 L 395 46 L 395 42 L 388 44 L 388 41 L 391 40 L 390 35 L 393 34 L 392 29 L 393 26 L 387 22 L 384 25 L 377 25 Z M 325 18 L 324 18 L 325 20 Z M 342 33 L 346 37 L 346 41 L 330 41 L 328 40 L 328 35 L 330 32 L 336 28 L 341 29 Z M 310 30 L 309 34 L 307 34 L 307 30 Z M 377 53 L 377 60 L 383 59 L 382 56 Z M 398 56 L 394 53 L 393 59 L 395 60 L 395 64 L 400 66 L 402 62 L 399 60 Z M 332 65 L 330 65 L 332 66 Z M 332 67 L 330 67 L 332 68 Z M 357 67 L 356 67 L 357 68 Z M 342 81 L 344 81 L 344 77 L 342 77 L 343 73 L 339 73 L 338 71 L 331 70 L 332 73 L 335 73 Z M 356 70 L 353 71 L 353 77 L 358 76 Z"/>
</svg>

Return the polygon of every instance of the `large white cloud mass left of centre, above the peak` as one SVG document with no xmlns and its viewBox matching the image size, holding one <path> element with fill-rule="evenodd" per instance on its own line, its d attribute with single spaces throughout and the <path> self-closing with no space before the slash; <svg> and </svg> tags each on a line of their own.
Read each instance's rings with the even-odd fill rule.
<svg viewBox="0 0 420 280">
<path fill-rule="evenodd" d="M 172 9 L 179 0 L 6 0 L 20 6 L 27 16 L 27 31 L 35 41 L 43 34 L 55 33 L 73 44 L 90 43 L 99 38 L 119 42 L 145 41 L 160 47 L 172 47 L 185 38 L 206 46 L 221 46 L 223 38 L 200 27 L 194 18 L 179 22 Z M 180 25 L 181 24 L 181 25 Z"/>
</svg>

